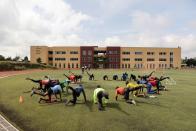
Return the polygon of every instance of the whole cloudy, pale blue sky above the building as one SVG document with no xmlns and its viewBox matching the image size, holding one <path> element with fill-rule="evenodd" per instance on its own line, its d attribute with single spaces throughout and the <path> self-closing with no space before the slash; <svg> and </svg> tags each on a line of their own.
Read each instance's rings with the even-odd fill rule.
<svg viewBox="0 0 196 131">
<path fill-rule="evenodd" d="M 0 55 L 30 46 L 178 47 L 196 57 L 196 0 L 1 0 Z"/>
</svg>

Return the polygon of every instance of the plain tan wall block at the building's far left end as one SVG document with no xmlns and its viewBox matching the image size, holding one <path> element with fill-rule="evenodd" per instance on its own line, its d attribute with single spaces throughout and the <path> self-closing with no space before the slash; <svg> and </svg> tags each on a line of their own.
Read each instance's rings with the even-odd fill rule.
<svg viewBox="0 0 196 131">
<path fill-rule="evenodd" d="M 42 63 L 48 64 L 48 47 L 47 46 L 31 46 L 30 60 L 31 63 L 37 63 L 37 59 L 41 58 Z"/>
</svg>

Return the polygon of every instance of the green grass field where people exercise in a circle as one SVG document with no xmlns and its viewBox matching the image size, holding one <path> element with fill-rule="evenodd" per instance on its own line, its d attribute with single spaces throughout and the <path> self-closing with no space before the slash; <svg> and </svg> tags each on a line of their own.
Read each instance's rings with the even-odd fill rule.
<svg viewBox="0 0 196 131">
<path fill-rule="evenodd" d="M 83 96 L 75 106 L 65 106 L 64 103 L 39 104 L 39 96 L 30 97 L 29 91 L 34 83 L 25 80 L 26 77 L 40 79 L 44 75 L 60 80 L 67 71 L 37 72 L 27 75 L 0 79 L 0 112 L 6 115 L 23 130 L 36 131 L 128 131 L 128 130 L 196 130 L 196 71 L 166 70 L 157 71 L 156 76 L 165 74 L 172 77 L 177 85 L 166 85 L 169 91 L 162 91 L 158 98 L 135 98 L 137 105 L 127 104 L 119 97 L 115 101 L 115 87 L 125 86 L 122 81 L 103 81 L 102 76 L 122 74 L 125 70 L 91 70 L 95 81 L 89 81 L 84 75 L 88 102 L 83 104 Z M 73 71 L 81 73 L 81 71 Z M 128 74 L 145 74 L 150 71 L 131 71 Z M 92 103 L 93 90 L 99 84 L 110 94 L 110 100 L 105 111 L 98 111 Z M 73 84 L 72 84 L 73 85 Z M 73 85 L 75 86 L 75 85 Z M 19 96 L 24 97 L 24 103 L 19 104 Z M 70 99 L 71 95 L 63 95 Z"/>
</svg>

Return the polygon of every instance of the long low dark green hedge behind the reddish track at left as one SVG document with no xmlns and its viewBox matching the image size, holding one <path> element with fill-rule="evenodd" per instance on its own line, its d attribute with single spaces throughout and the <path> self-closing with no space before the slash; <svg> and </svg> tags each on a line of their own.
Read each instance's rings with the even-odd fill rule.
<svg viewBox="0 0 196 131">
<path fill-rule="evenodd" d="M 8 70 L 26 70 L 26 69 L 56 69 L 55 67 L 44 65 L 44 64 L 33 64 L 24 62 L 13 62 L 13 61 L 0 61 L 0 71 Z"/>
</svg>

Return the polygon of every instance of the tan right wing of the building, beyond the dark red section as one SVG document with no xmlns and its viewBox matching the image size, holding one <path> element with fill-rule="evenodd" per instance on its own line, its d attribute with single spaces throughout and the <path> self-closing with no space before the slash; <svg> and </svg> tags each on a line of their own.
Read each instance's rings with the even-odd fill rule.
<svg viewBox="0 0 196 131">
<path fill-rule="evenodd" d="M 121 47 L 121 68 L 180 68 L 180 65 L 181 48 Z"/>
</svg>

